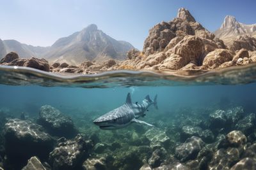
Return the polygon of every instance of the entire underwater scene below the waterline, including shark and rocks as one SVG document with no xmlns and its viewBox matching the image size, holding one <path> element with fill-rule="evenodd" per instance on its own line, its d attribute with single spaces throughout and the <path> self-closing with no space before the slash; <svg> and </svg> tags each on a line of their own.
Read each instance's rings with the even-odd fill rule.
<svg viewBox="0 0 256 170">
<path fill-rule="evenodd" d="M 186 76 L 131 80 L 113 72 L 89 87 L 84 76 L 53 80 L 36 69 L 1 67 L 1 164 L 5 169 L 241 169 L 245 161 L 247 167 L 256 155 L 254 67 L 193 82 Z M 122 84 L 109 84 L 113 77 Z"/>
</svg>

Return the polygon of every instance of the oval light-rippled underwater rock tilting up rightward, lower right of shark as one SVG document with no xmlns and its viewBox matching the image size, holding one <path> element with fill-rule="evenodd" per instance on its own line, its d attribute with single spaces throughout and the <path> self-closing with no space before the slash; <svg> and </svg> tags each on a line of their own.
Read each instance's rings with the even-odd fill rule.
<svg viewBox="0 0 256 170">
<path fill-rule="evenodd" d="M 185 143 L 177 146 L 175 149 L 175 155 L 182 162 L 195 159 L 198 152 L 200 152 L 204 145 L 205 143 L 202 139 L 192 136 L 191 138 L 188 138 Z"/>
</svg>

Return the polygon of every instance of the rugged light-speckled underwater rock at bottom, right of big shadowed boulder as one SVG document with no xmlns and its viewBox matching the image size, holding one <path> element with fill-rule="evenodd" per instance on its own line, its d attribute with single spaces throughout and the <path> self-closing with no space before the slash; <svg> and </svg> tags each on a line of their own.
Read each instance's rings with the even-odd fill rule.
<svg viewBox="0 0 256 170">
<path fill-rule="evenodd" d="M 58 146 L 50 153 L 49 160 L 53 170 L 76 169 L 81 167 L 92 149 L 92 142 L 85 141 L 78 134 L 75 139 L 62 139 Z"/>
</svg>

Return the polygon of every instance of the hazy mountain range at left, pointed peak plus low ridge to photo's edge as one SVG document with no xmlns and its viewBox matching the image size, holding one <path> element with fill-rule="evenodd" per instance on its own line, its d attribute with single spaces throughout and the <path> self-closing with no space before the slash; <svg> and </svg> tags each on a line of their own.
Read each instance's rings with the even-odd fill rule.
<svg viewBox="0 0 256 170">
<path fill-rule="evenodd" d="M 65 38 L 58 39 L 52 46 L 31 46 L 16 40 L 0 39 L 0 58 L 6 53 L 16 52 L 21 58 L 45 58 L 51 62 L 81 64 L 84 60 L 126 59 L 126 53 L 134 48 L 126 41 L 116 41 L 97 25 L 88 25 L 85 29 Z"/>
</svg>

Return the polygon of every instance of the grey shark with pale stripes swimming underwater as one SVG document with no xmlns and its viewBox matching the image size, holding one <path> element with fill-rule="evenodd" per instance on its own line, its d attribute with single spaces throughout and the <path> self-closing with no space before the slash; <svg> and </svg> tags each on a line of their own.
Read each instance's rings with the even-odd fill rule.
<svg viewBox="0 0 256 170">
<path fill-rule="evenodd" d="M 128 93 L 125 104 L 96 118 L 93 120 L 93 123 L 98 125 L 100 129 L 105 130 L 120 129 L 130 125 L 132 122 L 154 126 L 138 119 L 140 117 L 145 117 L 145 111 L 148 111 L 148 108 L 152 104 L 158 110 L 157 95 L 154 97 L 154 101 L 147 95 L 142 103 L 139 104 L 138 102 L 132 103 L 131 94 Z"/>
</svg>

